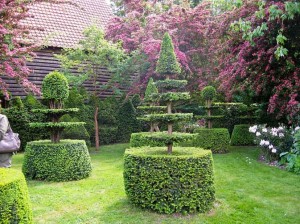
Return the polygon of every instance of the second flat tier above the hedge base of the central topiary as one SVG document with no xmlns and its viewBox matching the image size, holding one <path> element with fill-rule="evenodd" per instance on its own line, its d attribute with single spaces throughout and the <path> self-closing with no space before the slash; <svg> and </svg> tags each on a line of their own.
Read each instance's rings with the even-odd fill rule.
<svg viewBox="0 0 300 224">
<path fill-rule="evenodd" d="M 174 123 L 177 121 L 191 120 L 193 114 L 191 113 L 174 113 L 174 114 L 147 114 L 145 115 L 146 120 L 156 121 L 156 122 L 165 122 L 165 123 Z M 143 118 L 141 118 L 143 119 Z"/>
</svg>

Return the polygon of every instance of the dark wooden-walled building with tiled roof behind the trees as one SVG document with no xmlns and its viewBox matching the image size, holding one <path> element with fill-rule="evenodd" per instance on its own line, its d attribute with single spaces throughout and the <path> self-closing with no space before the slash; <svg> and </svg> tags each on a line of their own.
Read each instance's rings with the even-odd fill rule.
<svg viewBox="0 0 300 224">
<path fill-rule="evenodd" d="M 83 38 L 83 30 L 96 24 L 105 28 L 113 12 L 106 0 L 72 0 L 72 3 L 35 3 L 30 6 L 30 17 L 22 21 L 26 26 L 32 27 L 30 39 L 40 46 L 35 52 L 36 57 L 28 61 L 31 70 L 29 81 L 41 86 L 42 80 L 49 72 L 60 68 L 59 61 L 54 54 L 61 52 L 63 48 L 73 48 Z M 76 71 L 74 70 L 74 73 Z M 106 68 L 98 68 L 99 83 L 105 83 L 110 79 L 110 72 Z M 12 96 L 25 97 L 26 92 L 14 80 L 7 79 L 9 91 Z M 86 81 L 84 86 L 90 89 L 91 81 Z M 100 97 L 108 97 L 113 93 L 103 91 Z"/>
</svg>

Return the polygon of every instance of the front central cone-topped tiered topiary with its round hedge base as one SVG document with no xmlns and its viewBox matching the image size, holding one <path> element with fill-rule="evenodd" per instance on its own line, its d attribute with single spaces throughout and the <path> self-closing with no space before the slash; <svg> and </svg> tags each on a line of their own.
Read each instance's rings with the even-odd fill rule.
<svg viewBox="0 0 300 224">
<path fill-rule="evenodd" d="M 124 161 L 125 191 L 130 201 L 159 213 L 205 212 L 214 200 L 212 153 L 201 148 L 174 147 L 193 134 L 173 132 L 173 123 L 189 120 L 193 114 L 172 113 L 172 104 L 189 99 L 187 92 L 175 92 L 186 85 L 185 80 L 170 79 L 180 72 L 169 34 L 164 35 L 157 70 L 165 80 L 157 81 L 161 94 L 151 94 L 152 100 L 167 105 L 167 113 L 145 115 L 150 122 L 167 123 L 167 132 L 149 132 L 141 141 L 165 147 L 143 146 L 127 149 Z M 135 134 L 133 134 L 134 136 Z M 147 139 L 147 140 L 146 140 Z M 139 140 L 132 142 L 139 145 Z"/>
</svg>

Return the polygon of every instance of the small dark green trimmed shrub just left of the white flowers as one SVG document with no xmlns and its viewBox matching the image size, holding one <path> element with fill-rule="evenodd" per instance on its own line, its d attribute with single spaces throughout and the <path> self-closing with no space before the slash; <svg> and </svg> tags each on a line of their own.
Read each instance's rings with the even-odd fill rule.
<svg viewBox="0 0 300 224">
<path fill-rule="evenodd" d="M 249 132 L 250 125 L 234 125 L 231 135 L 231 145 L 254 145 L 254 135 Z"/>
</svg>

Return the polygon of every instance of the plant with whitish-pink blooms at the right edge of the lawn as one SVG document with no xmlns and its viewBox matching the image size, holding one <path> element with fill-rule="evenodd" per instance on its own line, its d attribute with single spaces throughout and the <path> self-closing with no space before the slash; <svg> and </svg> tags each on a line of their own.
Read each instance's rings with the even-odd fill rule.
<svg viewBox="0 0 300 224">
<path fill-rule="evenodd" d="M 262 147 L 265 159 L 276 161 L 280 159 L 282 152 L 289 152 L 293 144 L 292 131 L 285 126 L 266 127 L 266 125 L 254 125 L 249 132 L 255 134 L 255 142 Z"/>
</svg>

